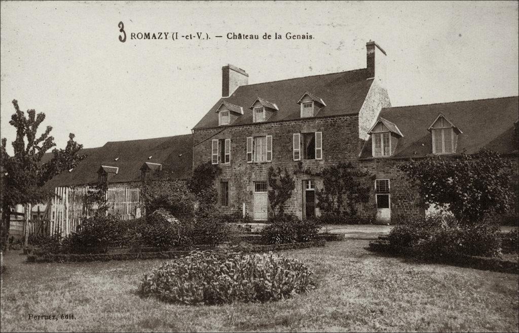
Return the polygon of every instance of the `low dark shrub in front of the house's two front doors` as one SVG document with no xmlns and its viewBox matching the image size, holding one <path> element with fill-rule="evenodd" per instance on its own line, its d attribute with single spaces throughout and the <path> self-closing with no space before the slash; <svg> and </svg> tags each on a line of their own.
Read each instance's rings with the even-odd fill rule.
<svg viewBox="0 0 519 333">
<path fill-rule="evenodd" d="M 307 242 L 317 239 L 320 228 L 317 219 L 301 221 L 295 215 L 282 214 L 263 228 L 262 236 L 268 244 Z"/>
</svg>

